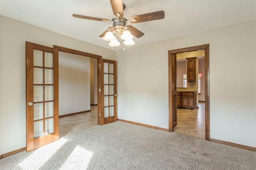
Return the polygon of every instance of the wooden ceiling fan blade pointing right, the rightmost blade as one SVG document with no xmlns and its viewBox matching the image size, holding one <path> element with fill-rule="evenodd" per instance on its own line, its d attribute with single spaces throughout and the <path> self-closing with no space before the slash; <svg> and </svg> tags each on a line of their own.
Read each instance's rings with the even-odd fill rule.
<svg viewBox="0 0 256 170">
<path fill-rule="evenodd" d="M 136 20 L 132 20 L 135 18 Z M 153 21 L 153 20 L 160 20 L 164 18 L 164 11 L 156 11 L 150 12 L 147 14 L 141 14 L 136 16 L 131 16 L 129 20 L 131 23 L 138 23 L 138 22 L 146 22 L 146 21 Z"/>
</svg>

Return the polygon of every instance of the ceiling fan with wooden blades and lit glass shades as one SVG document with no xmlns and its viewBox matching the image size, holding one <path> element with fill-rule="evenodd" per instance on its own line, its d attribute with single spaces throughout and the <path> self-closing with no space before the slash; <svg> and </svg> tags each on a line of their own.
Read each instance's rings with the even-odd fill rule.
<svg viewBox="0 0 256 170">
<path fill-rule="evenodd" d="M 116 17 L 112 18 L 112 20 L 104 19 L 104 18 L 96 18 L 91 16 L 83 16 L 78 14 L 73 14 L 76 18 L 83 18 L 87 20 L 96 20 L 103 22 L 110 22 L 112 24 L 111 27 L 103 32 L 100 37 L 104 37 L 103 40 L 110 41 L 109 45 L 112 47 L 117 47 L 120 43 L 116 40 L 116 37 L 121 38 L 124 41 L 125 45 L 134 45 L 134 41 L 132 40 L 133 36 L 140 38 L 144 36 L 144 33 L 140 30 L 134 28 L 131 25 L 127 25 L 130 23 L 139 23 L 146 22 L 152 20 L 160 20 L 164 18 L 164 11 L 156 11 L 150 12 L 147 14 L 140 14 L 136 16 L 131 16 L 129 20 L 124 18 L 124 9 L 126 6 L 123 4 L 122 0 L 110 0 L 113 13 Z"/>
</svg>

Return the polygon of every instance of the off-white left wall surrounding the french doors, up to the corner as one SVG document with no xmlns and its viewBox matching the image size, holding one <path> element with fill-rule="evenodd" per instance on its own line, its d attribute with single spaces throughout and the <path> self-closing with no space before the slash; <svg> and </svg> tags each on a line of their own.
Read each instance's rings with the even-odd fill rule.
<svg viewBox="0 0 256 170">
<path fill-rule="evenodd" d="M 115 60 L 115 51 L 0 16 L 0 155 L 26 146 L 25 42 L 58 45 Z"/>
</svg>

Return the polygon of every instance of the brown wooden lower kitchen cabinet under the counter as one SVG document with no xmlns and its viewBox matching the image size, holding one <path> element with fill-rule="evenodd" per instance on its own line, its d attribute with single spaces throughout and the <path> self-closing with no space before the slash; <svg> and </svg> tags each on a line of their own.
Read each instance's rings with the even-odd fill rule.
<svg viewBox="0 0 256 170">
<path fill-rule="evenodd" d="M 196 91 L 177 92 L 177 108 L 196 109 Z"/>
</svg>

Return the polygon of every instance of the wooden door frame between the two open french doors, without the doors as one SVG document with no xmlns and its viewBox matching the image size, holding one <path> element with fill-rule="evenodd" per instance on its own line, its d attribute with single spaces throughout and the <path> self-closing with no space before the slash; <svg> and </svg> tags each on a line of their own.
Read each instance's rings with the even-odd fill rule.
<svg viewBox="0 0 256 170">
<path fill-rule="evenodd" d="M 66 47 L 60 47 L 57 45 L 53 45 L 53 55 L 54 57 L 58 58 L 59 57 L 59 51 L 62 52 L 66 52 L 66 53 L 72 53 L 72 54 L 77 54 L 77 55 L 82 55 L 84 57 L 91 57 L 91 58 L 96 58 L 97 59 L 97 89 L 100 89 L 100 72 L 101 72 L 101 67 L 99 67 L 99 64 L 101 63 L 102 60 L 102 56 L 101 55 L 96 55 L 96 54 L 92 54 L 92 53 L 86 53 L 83 51 L 78 51 L 75 49 L 69 49 Z M 59 80 L 57 80 L 59 81 Z M 97 117 L 98 117 L 98 125 L 100 125 L 100 103 L 101 103 L 101 99 L 100 99 L 100 92 L 99 90 L 97 90 L 97 105 L 98 105 L 98 113 L 97 113 Z"/>
</svg>

